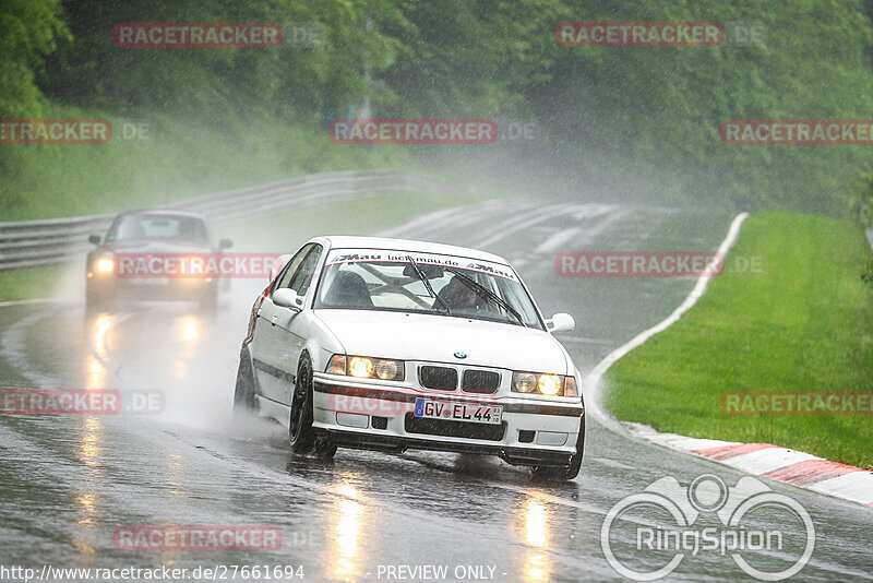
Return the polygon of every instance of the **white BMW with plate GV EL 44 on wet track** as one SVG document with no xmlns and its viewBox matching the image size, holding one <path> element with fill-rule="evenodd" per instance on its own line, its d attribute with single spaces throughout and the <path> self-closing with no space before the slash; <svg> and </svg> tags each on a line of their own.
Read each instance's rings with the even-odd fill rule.
<svg viewBox="0 0 873 583">
<path fill-rule="evenodd" d="M 573 326 L 543 319 L 500 257 L 316 237 L 254 302 L 235 409 L 283 424 L 296 453 L 485 453 L 572 479 L 585 408 L 552 333 Z"/>
</svg>

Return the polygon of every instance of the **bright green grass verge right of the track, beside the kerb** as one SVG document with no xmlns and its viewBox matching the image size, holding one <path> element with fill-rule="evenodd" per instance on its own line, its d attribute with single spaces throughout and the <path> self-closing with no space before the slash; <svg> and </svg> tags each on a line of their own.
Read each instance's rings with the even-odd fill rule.
<svg viewBox="0 0 873 583">
<path fill-rule="evenodd" d="M 873 417 L 727 415 L 723 392 L 873 392 L 871 249 L 849 222 L 750 217 L 732 258 L 764 257 L 762 274 L 726 272 L 685 316 L 619 360 L 605 405 L 659 431 L 774 443 L 873 468 Z"/>
</svg>

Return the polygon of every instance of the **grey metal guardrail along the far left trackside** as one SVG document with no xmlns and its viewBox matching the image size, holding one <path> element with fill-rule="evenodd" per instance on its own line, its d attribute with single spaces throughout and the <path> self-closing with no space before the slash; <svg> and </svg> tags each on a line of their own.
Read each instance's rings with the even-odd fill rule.
<svg viewBox="0 0 873 583">
<path fill-rule="evenodd" d="M 402 171 L 324 172 L 188 199 L 169 207 L 203 213 L 214 224 L 379 194 L 449 190 L 452 187 L 444 182 Z M 105 233 L 115 216 L 0 223 L 0 271 L 61 263 L 84 253 L 92 247 L 87 235 Z"/>
</svg>

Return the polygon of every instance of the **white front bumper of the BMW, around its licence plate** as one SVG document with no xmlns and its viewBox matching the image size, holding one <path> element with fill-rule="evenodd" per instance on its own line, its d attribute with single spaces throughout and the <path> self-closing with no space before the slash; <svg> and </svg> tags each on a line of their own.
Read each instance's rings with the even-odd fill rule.
<svg viewBox="0 0 873 583">
<path fill-rule="evenodd" d="M 313 426 L 348 448 L 485 453 L 518 465 L 566 465 L 576 452 L 581 402 L 418 390 L 315 373 Z M 416 398 L 502 405 L 500 425 L 422 419 Z"/>
</svg>

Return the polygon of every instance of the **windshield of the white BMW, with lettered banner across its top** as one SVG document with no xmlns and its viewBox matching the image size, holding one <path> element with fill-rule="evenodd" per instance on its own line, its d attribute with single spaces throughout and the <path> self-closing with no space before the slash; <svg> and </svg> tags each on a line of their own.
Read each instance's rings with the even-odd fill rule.
<svg viewBox="0 0 873 583">
<path fill-rule="evenodd" d="M 439 313 L 542 330 L 512 267 L 431 253 L 334 250 L 315 308 Z"/>
</svg>

